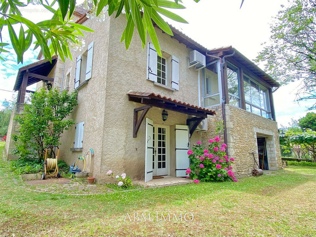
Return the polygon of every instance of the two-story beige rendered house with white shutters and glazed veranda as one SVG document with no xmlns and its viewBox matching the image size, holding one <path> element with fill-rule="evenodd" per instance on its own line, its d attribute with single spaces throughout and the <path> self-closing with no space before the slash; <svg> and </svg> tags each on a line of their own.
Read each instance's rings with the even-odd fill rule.
<svg viewBox="0 0 316 237">
<path fill-rule="evenodd" d="M 126 50 L 124 15 L 99 22 L 86 13 L 77 6 L 76 22 L 96 32 L 85 33 L 83 51 L 70 50 L 74 61 L 54 58 L 46 72 L 35 68 L 45 60 L 31 64 L 15 85 L 23 93 L 21 77 L 33 70 L 61 91 L 78 90 L 70 115 L 76 125 L 63 133 L 61 159 L 72 164 L 93 149 L 90 172 L 99 183 L 108 170 L 145 181 L 183 177 L 188 149 L 198 140 L 207 144 L 223 120 L 237 177 L 250 175 L 252 152 L 262 168 L 282 168 L 272 96 L 279 84 L 263 70 L 231 46 L 209 50 L 174 27 L 172 37 L 155 27 L 162 57 L 150 41 L 143 50 L 136 33 Z"/>
</svg>

